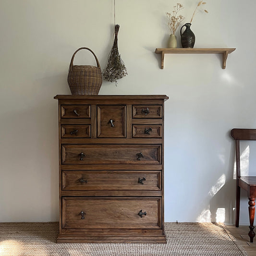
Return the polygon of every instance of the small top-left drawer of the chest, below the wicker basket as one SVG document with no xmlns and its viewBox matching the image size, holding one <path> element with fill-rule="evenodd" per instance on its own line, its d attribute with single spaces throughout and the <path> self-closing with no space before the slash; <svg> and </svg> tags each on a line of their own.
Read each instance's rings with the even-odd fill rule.
<svg viewBox="0 0 256 256">
<path fill-rule="evenodd" d="M 90 105 L 61 105 L 61 118 L 90 118 Z"/>
</svg>

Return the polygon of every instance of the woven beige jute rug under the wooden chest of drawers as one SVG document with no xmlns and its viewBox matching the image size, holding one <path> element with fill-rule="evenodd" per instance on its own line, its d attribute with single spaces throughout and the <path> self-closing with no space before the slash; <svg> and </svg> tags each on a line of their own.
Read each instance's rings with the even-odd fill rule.
<svg viewBox="0 0 256 256">
<path fill-rule="evenodd" d="M 166 222 L 167 244 L 56 244 L 58 222 L 0 223 L 0 256 L 247 256 L 225 225 Z"/>
</svg>

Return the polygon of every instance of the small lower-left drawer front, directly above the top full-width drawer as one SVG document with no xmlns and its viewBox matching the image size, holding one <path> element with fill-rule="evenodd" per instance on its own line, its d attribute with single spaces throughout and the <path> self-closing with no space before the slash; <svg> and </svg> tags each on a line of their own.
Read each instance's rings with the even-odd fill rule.
<svg viewBox="0 0 256 256">
<path fill-rule="evenodd" d="M 61 138 L 90 138 L 91 125 L 61 125 Z"/>
</svg>

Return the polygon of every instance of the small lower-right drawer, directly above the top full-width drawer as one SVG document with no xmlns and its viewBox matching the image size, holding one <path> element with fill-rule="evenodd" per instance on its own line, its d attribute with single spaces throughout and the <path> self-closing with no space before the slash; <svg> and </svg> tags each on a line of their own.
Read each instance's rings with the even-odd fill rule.
<svg viewBox="0 0 256 256">
<path fill-rule="evenodd" d="M 133 138 L 161 138 L 162 125 L 133 125 Z"/>
</svg>

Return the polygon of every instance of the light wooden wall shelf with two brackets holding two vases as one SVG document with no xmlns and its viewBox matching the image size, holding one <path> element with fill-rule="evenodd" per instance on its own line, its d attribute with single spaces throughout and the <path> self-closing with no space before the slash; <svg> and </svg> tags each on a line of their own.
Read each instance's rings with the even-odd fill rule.
<svg viewBox="0 0 256 256">
<path fill-rule="evenodd" d="M 157 48 L 155 53 L 161 54 L 161 69 L 164 68 L 165 54 L 222 54 L 222 69 L 226 68 L 228 54 L 232 53 L 235 48 Z"/>
</svg>

